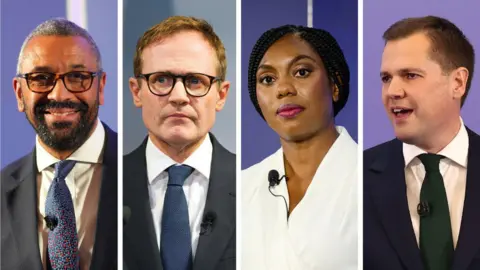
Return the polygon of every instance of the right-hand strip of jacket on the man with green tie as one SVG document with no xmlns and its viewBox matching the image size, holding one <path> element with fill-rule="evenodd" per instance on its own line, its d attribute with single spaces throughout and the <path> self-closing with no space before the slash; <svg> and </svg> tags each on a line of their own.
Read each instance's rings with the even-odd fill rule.
<svg viewBox="0 0 480 270">
<path fill-rule="evenodd" d="M 480 137 L 469 130 L 467 186 L 462 223 L 453 260 L 454 270 L 465 270 L 480 250 Z"/>
</svg>

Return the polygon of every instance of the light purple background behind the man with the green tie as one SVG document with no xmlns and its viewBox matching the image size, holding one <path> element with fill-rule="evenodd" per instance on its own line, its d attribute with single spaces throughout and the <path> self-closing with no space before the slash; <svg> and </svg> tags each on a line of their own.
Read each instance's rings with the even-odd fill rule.
<svg viewBox="0 0 480 270">
<path fill-rule="evenodd" d="M 365 0 L 363 3 L 363 147 L 364 149 L 394 138 L 393 128 L 381 100 L 380 64 L 387 28 L 406 17 L 434 15 L 457 25 L 476 49 L 475 62 L 480 60 L 480 1 L 436 0 Z M 480 101 L 480 66 L 475 66 L 472 85 L 462 109 L 464 123 L 480 133 L 478 102 Z M 477 107 L 477 108 L 475 108 Z"/>
</svg>

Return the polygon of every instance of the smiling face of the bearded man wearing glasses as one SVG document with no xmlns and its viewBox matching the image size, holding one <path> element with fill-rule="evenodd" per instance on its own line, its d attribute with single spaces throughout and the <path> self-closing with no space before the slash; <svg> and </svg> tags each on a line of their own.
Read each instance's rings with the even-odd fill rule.
<svg viewBox="0 0 480 270">
<path fill-rule="evenodd" d="M 82 37 L 37 36 L 26 45 L 20 73 L 98 71 L 97 58 Z M 14 78 L 13 88 L 20 112 L 40 141 L 54 150 L 75 150 L 93 132 L 98 106 L 103 104 L 105 74 L 94 77 L 89 90 L 73 93 L 57 80 L 50 92 L 32 92 L 25 78 Z"/>
</svg>

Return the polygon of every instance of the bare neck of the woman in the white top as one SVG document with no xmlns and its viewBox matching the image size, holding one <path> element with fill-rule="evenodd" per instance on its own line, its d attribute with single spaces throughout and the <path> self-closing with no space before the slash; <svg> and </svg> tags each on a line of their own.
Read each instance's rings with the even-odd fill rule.
<svg viewBox="0 0 480 270">
<path fill-rule="evenodd" d="M 281 140 L 286 175 L 310 182 L 338 135 L 332 124 L 328 129 L 301 142 Z"/>
</svg>

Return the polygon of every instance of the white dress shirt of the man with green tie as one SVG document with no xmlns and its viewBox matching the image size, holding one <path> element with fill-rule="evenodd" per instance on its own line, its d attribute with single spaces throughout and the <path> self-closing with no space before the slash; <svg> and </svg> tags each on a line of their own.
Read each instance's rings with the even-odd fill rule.
<svg viewBox="0 0 480 270">
<path fill-rule="evenodd" d="M 463 120 L 460 119 L 460 121 L 460 130 L 455 138 L 438 153 L 446 157 L 440 160 L 440 173 L 447 193 L 454 247 L 457 246 L 460 232 L 467 184 L 468 133 Z M 417 244 L 419 244 L 420 237 L 420 217 L 417 213 L 417 206 L 420 203 L 420 191 L 425 178 L 425 167 L 417 156 L 423 153 L 426 152 L 415 145 L 403 144 L 408 209 Z"/>
</svg>

